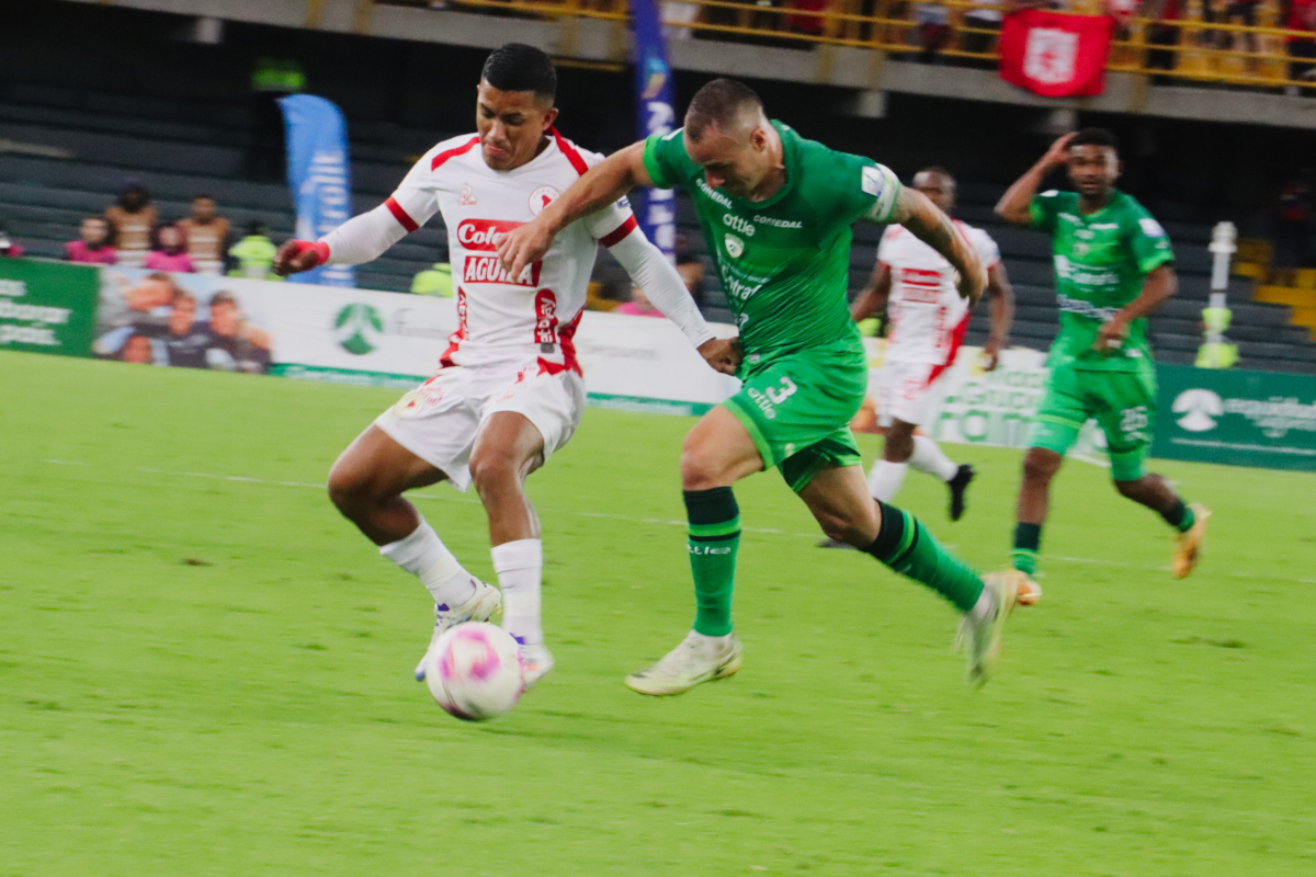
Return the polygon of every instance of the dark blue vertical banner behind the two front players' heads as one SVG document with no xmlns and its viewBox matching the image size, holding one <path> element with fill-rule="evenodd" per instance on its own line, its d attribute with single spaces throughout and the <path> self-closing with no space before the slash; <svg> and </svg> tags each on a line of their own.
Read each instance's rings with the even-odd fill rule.
<svg viewBox="0 0 1316 877">
<path fill-rule="evenodd" d="M 671 97 L 671 68 L 662 38 L 662 18 L 655 0 L 630 0 L 636 33 L 636 96 L 640 137 L 666 134 L 676 118 Z M 676 246 L 676 197 L 671 189 L 647 189 L 640 199 L 640 227 L 669 260 Z"/>
</svg>

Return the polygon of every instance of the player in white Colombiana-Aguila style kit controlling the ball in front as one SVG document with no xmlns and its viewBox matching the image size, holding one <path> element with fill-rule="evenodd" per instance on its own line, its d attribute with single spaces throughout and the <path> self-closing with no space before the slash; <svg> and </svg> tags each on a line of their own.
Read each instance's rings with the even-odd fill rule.
<svg viewBox="0 0 1316 877">
<path fill-rule="evenodd" d="M 733 342 L 713 338 L 680 275 L 636 227 L 624 201 L 571 225 L 521 277 L 500 268 L 503 235 L 603 160 L 553 128 L 555 89 L 553 63 L 538 49 L 509 43 L 494 51 L 476 92 L 476 134 L 443 141 L 384 204 L 317 242 L 290 241 L 275 264 L 291 273 L 370 262 L 442 213 L 458 330 L 436 376 L 342 452 L 329 473 L 329 496 L 382 555 L 418 576 L 433 596 L 432 647 L 457 623 L 487 621 L 501 600 L 504 627 L 522 644 L 526 688 L 553 668 L 553 655 L 540 622 L 540 521 L 524 483 L 580 422 L 584 383 L 572 335 L 597 245 L 611 249 L 709 366 L 734 373 L 738 359 Z M 442 480 L 459 490 L 475 485 L 501 594 L 468 573 L 401 496 Z"/>
</svg>

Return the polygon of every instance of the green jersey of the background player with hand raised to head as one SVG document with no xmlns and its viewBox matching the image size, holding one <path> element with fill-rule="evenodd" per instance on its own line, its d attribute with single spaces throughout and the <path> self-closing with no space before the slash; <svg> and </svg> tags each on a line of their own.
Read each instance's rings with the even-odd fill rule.
<svg viewBox="0 0 1316 877">
<path fill-rule="evenodd" d="M 1076 192 L 1042 192 L 1029 208 L 1032 226 L 1051 234 L 1055 258 L 1055 297 L 1061 331 L 1051 344 L 1053 364 L 1073 363 L 1092 371 L 1152 368 L 1148 321 L 1129 325 L 1120 350 L 1092 350 L 1096 330 L 1142 295 L 1146 275 L 1174 260 L 1161 224 L 1132 196 L 1115 191 L 1096 213 L 1079 213 Z"/>
</svg>

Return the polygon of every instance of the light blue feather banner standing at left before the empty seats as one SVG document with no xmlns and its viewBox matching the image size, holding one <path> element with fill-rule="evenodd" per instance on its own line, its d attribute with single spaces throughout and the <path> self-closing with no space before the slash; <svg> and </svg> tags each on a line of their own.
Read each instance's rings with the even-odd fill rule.
<svg viewBox="0 0 1316 877">
<path fill-rule="evenodd" d="M 316 241 L 351 218 L 347 126 L 332 101 L 312 95 L 280 97 L 288 131 L 288 187 L 297 205 L 301 241 Z M 325 266 L 288 277 L 292 283 L 355 287 L 351 266 Z"/>
</svg>

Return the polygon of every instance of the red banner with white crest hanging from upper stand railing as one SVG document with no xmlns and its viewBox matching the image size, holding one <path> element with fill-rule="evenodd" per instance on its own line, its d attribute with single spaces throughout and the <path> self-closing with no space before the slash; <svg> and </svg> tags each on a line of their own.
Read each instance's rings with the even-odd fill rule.
<svg viewBox="0 0 1316 877">
<path fill-rule="evenodd" d="M 1044 97 L 1100 95 L 1113 33 L 1109 16 L 1008 14 L 1000 29 L 1000 78 Z"/>
</svg>

